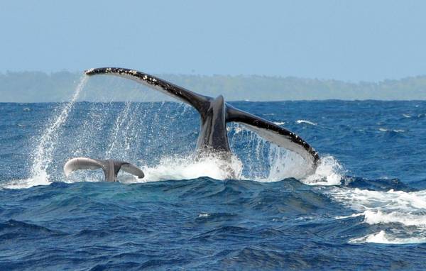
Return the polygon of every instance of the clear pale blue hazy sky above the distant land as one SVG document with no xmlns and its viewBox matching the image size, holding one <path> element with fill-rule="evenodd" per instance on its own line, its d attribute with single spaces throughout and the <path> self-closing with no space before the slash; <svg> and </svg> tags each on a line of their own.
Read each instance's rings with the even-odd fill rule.
<svg viewBox="0 0 426 271">
<path fill-rule="evenodd" d="M 426 74 L 426 1 L 1 0 L 0 35 L 0 72 Z"/>
</svg>

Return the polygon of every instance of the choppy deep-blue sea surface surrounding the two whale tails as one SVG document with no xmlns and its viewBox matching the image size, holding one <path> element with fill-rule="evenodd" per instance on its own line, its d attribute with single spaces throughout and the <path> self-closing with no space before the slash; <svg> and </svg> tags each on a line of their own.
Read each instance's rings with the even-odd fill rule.
<svg viewBox="0 0 426 271">
<path fill-rule="evenodd" d="M 306 175 L 235 123 L 231 165 L 195 160 L 184 104 L 80 92 L 0 104 L 0 270 L 425 270 L 426 101 L 230 102 L 307 140 L 322 160 Z M 65 177 L 72 157 L 146 177 Z"/>
</svg>

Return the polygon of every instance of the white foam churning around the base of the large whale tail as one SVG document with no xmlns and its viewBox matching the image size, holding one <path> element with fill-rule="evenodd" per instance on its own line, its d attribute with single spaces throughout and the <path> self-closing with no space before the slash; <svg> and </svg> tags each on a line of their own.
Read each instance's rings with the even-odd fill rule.
<svg viewBox="0 0 426 271">
<path fill-rule="evenodd" d="M 214 154 L 204 155 L 197 159 L 193 155 L 187 157 L 175 155 L 173 157 L 163 157 L 158 165 L 153 166 L 143 165 L 143 161 L 141 161 L 142 165 L 140 166 L 145 173 L 143 179 L 129 175 L 123 177 L 121 175 L 119 176 L 119 181 L 138 183 L 211 177 L 219 180 L 231 178 L 251 179 L 256 182 L 278 182 L 289 177 L 295 177 L 309 185 L 338 185 L 342 179 L 342 166 L 331 156 L 323 157 L 315 173 L 307 177 L 305 160 L 295 153 L 285 150 L 283 152 L 271 152 L 269 162 L 271 170 L 267 177 L 256 178 L 242 175 L 243 165 L 236 156 L 232 156 L 231 162 L 229 162 Z"/>
</svg>

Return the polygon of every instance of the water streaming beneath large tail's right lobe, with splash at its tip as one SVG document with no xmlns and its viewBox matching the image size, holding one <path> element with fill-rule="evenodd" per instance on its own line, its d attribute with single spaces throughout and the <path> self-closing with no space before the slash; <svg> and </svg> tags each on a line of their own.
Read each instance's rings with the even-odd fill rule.
<svg viewBox="0 0 426 271">
<path fill-rule="evenodd" d="M 310 174 L 309 165 L 300 155 L 269 143 L 238 123 L 228 123 L 228 134 L 231 149 L 244 165 L 244 179 L 277 182 L 293 177 L 305 184 L 340 184 L 343 169 L 331 156 L 322 157 L 317 170 Z"/>
</svg>

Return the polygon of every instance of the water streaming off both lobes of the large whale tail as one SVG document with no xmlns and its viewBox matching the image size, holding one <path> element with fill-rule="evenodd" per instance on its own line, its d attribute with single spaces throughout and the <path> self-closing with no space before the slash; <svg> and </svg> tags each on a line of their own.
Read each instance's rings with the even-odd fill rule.
<svg viewBox="0 0 426 271">
<path fill-rule="evenodd" d="M 83 77 L 71 101 L 60 105 L 59 113 L 48 121 L 37 140 L 28 185 L 103 179 L 101 171 L 77 172 L 65 179 L 62 167 L 72 157 L 131 162 L 148 172 L 143 181 L 202 176 L 226 179 L 232 172 L 238 179 L 260 182 L 295 177 L 307 184 L 317 184 L 318 179 L 321 184 L 339 184 L 339 174 L 334 174 L 337 162 L 323 160 L 322 170 L 317 170 L 313 179 L 306 178 L 307 165 L 302 157 L 236 123 L 228 123 L 233 162 L 224 164 L 209 155 L 194 159 L 200 116 L 191 106 L 166 101 L 163 94 L 158 95 L 163 101 L 151 101 L 153 91 L 146 87 L 130 89 L 126 94 L 115 92 L 114 87 L 92 93 L 90 87 L 83 90 L 86 82 L 87 77 Z M 97 97 L 98 101 L 81 101 L 87 97 Z M 330 181 L 329 176 L 334 175 Z"/>
</svg>

